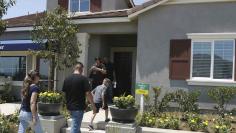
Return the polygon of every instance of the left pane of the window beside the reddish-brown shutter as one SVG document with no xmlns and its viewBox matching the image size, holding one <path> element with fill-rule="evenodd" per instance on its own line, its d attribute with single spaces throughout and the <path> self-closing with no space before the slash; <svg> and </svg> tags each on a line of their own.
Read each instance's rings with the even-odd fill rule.
<svg viewBox="0 0 236 133">
<path fill-rule="evenodd" d="M 211 42 L 193 43 L 192 77 L 210 77 Z"/>
</svg>

